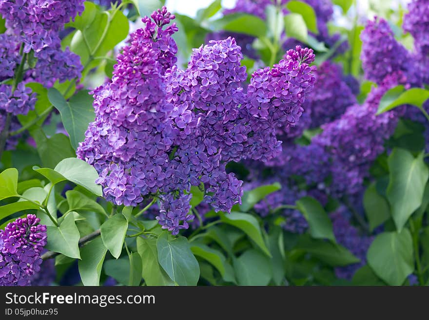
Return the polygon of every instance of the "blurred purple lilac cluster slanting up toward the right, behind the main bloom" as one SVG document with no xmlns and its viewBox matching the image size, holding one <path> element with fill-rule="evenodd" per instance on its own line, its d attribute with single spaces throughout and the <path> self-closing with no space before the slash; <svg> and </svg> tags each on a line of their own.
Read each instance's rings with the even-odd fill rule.
<svg viewBox="0 0 429 320">
<path fill-rule="evenodd" d="M 312 142 L 324 147 L 331 157 L 334 195 L 353 195 L 362 190 L 372 162 L 384 151 L 384 141 L 393 133 L 402 112 L 396 109 L 376 115 L 378 104 L 383 94 L 405 80 L 402 73 L 386 76 L 364 104 L 352 105 L 340 118 L 322 125 L 323 132 L 313 138 Z"/>
</svg>

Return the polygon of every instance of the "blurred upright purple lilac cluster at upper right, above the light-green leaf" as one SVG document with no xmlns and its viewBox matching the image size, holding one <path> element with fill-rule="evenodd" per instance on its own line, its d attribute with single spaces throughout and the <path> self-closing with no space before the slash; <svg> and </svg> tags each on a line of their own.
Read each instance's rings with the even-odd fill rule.
<svg viewBox="0 0 429 320">
<path fill-rule="evenodd" d="M 410 64 L 409 52 L 396 41 L 386 20 L 369 20 L 360 38 L 362 67 L 366 79 L 381 83 L 391 73 L 407 72 Z"/>
</svg>

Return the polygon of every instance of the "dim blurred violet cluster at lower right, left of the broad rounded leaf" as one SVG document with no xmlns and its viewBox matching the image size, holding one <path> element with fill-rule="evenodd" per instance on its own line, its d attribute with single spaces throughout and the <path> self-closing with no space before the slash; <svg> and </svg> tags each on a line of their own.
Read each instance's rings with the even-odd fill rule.
<svg viewBox="0 0 429 320">
<path fill-rule="evenodd" d="M 338 278 L 351 280 L 356 270 L 366 264 L 367 251 L 373 237 L 362 235 L 358 228 L 351 225 L 350 214 L 344 207 L 340 207 L 331 213 L 331 220 L 337 242 L 360 259 L 359 263 L 335 268 L 335 274 Z"/>
</svg>

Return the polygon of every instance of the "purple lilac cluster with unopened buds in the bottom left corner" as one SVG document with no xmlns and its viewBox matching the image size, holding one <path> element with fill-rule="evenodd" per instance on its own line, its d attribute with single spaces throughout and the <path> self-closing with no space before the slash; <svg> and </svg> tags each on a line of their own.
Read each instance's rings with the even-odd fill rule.
<svg viewBox="0 0 429 320">
<path fill-rule="evenodd" d="M 40 270 L 46 226 L 34 214 L 18 218 L 0 230 L 0 285 L 29 285 Z"/>
</svg>

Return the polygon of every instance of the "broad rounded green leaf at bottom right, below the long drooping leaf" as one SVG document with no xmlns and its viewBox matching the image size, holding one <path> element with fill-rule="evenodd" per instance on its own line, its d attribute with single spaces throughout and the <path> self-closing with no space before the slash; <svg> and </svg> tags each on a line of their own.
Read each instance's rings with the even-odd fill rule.
<svg viewBox="0 0 429 320">
<path fill-rule="evenodd" d="M 408 229 L 383 232 L 374 239 L 367 261 L 375 274 L 390 285 L 401 285 L 414 270 L 412 239 Z"/>
</svg>

